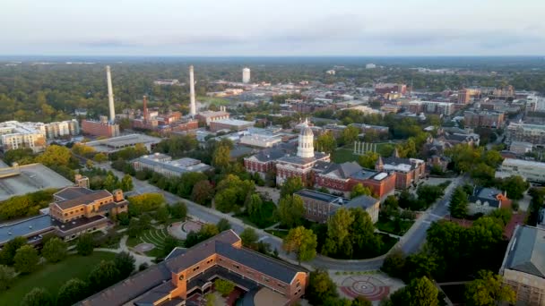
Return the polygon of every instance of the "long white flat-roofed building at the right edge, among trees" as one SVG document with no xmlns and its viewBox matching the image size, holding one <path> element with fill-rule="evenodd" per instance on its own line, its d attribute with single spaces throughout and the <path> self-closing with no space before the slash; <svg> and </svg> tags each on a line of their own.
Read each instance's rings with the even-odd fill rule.
<svg viewBox="0 0 545 306">
<path fill-rule="evenodd" d="M 545 163 L 536 161 L 506 158 L 496 172 L 496 177 L 520 175 L 526 181 L 545 183 Z"/>
</svg>

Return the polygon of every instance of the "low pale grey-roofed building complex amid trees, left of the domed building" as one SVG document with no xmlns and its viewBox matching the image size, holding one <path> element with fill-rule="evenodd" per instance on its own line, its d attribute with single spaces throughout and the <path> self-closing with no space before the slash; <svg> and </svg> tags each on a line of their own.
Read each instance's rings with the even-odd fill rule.
<svg viewBox="0 0 545 306">
<path fill-rule="evenodd" d="M 138 157 L 132 161 L 132 164 L 136 171 L 151 170 L 169 178 L 179 177 L 189 172 L 204 172 L 212 168 L 198 159 L 184 157 L 172 160 L 172 157 L 160 153 Z"/>
</svg>

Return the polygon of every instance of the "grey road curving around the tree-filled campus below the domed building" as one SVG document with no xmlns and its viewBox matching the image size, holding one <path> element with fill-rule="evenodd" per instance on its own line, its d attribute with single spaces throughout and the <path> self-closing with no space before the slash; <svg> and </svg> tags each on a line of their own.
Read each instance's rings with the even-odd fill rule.
<svg viewBox="0 0 545 306">
<path fill-rule="evenodd" d="M 107 171 L 111 170 L 119 178 L 122 178 L 125 175 L 122 172 L 112 169 L 109 164 L 98 164 L 95 166 L 99 166 Z M 426 231 L 428 230 L 429 226 L 432 222 L 437 221 L 448 214 L 448 203 L 450 201 L 450 197 L 452 196 L 452 192 L 457 186 L 463 184 L 465 181 L 467 181 L 467 176 L 459 176 L 454 179 L 453 182 L 446 188 L 443 198 L 438 200 L 433 207 L 429 208 L 428 211 L 424 213 L 414 225 L 411 226 L 411 229 L 402 237 L 401 241 L 398 242 L 397 247 L 401 248 L 401 250 L 407 254 L 419 251 L 420 246 L 426 240 Z M 127 194 L 141 194 L 146 192 L 161 193 L 169 204 L 179 201 L 185 202 L 187 206 L 187 214 L 205 223 L 216 224 L 221 218 L 226 218 L 229 220 L 231 228 L 238 234 L 240 234 L 245 227 L 250 226 L 245 225 L 238 218 L 223 214 L 212 208 L 203 207 L 202 205 L 199 205 L 193 201 L 182 199 L 168 191 L 160 190 L 146 181 L 140 181 L 133 178 L 133 184 L 134 191 L 127 192 Z M 287 254 L 286 252 L 282 251 L 280 238 L 272 234 L 268 234 L 261 229 L 255 227 L 254 229 L 257 234 L 259 234 L 260 241 L 269 243 L 272 250 L 276 249 L 282 259 L 289 260 L 292 263 L 297 263 L 297 260 L 293 254 Z M 316 259 L 304 264 L 304 266 L 307 268 L 324 268 L 330 270 L 368 271 L 380 268 L 384 259 L 385 256 L 375 259 L 339 260 L 318 255 L 316 256 Z"/>
</svg>

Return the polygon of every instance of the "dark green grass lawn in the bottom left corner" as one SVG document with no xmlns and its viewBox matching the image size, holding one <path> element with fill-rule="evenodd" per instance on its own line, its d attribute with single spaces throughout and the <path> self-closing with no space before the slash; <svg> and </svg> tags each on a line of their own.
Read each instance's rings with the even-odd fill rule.
<svg viewBox="0 0 545 306">
<path fill-rule="evenodd" d="M 85 280 L 100 260 L 114 259 L 115 253 L 95 251 L 90 256 L 69 256 L 56 264 L 46 264 L 38 271 L 26 276 L 18 276 L 11 288 L 0 294 L 0 305 L 19 305 L 23 296 L 34 287 L 43 287 L 51 294 L 71 278 Z"/>
</svg>

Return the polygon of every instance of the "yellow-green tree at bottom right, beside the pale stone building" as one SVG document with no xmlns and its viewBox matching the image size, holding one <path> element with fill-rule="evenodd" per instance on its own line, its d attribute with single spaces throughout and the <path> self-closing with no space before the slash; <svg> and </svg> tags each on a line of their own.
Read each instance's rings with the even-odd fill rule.
<svg viewBox="0 0 545 306">
<path fill-rule="evenodd" d="M 470 306 L 514 304 L 516 295 L 513 289 L 503 282 L 502 276 L 481 270 L 479 278 L 465 285 L 465 300 Z"/>
</svg>

